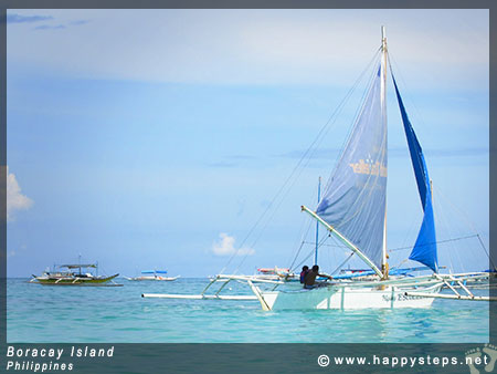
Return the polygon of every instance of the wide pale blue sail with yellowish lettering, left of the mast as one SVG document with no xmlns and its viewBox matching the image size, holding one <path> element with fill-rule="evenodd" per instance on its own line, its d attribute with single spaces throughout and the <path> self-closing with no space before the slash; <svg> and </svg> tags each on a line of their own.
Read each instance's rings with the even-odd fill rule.
<svg viewBox="0 0 497 374">
<path fill-rule="evenodd" d="M 387 204 L 387 117 L 376 74 L 353 131 L 316 214 L 361 250 L 378 268 L 383 257 Z"/>
</svg>

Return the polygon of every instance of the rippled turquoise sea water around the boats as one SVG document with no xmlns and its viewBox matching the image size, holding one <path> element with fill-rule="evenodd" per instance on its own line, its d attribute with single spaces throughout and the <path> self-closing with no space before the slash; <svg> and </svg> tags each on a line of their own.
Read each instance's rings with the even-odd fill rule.
<svg viewBox="0 0 497 374">
<path fill-rule="evenodd" d="M 486 343 L 486 302 L 430 309 L 264 312 L 257 301 L 144 299 L 200 293 L 208 279 L 49 287 L 9 279 L 9 343 Z M 252 294 L 230 283 L 229 293 Z M 477 293 L 475 291 L 475 293 Z"/>
</svg>

